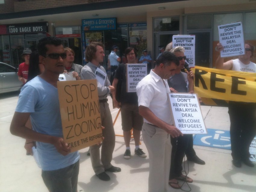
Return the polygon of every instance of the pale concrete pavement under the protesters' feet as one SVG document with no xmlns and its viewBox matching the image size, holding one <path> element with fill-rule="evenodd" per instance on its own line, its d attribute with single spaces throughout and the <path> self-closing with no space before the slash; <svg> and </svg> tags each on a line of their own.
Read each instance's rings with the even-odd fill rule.
<svg viewBox="0 0 256 192">
<path fill-rule="evenodd" d="M 26 156 L 23 138 L 11 135 L 9 131 L 11 119 L 17 104 L 18 94 L 0 94 L 0 191 L 1 192 L 47 192 L 41 170 L 32 156 Z M 112 109 L 111 98 L 108 98 L 113 120 L 118 110 Z M 226 107 L 201 106 L 207 128 L 229 130 L 229 116 Z M 116 134 L 123 135 L 121 117 L 114 126 Z M 141 148 L 147 154 L 147 149 L 141 137 Z M 124 159 L 125 144 L 122 137 L 116 137 L 112 164 L 119 166 L 119 173 L 108 173 L 110 181 L 99 180 L 91 166 L 88 148 L 80 150 L 80 173 L 78 191 L 87 192 L 146 192 L 148 190 L 148 157 L 134 155 L 134 141 L 131 141 L 131 159 Z M 192 192 L 255 192 L 256 167 L 242 165 L 236 168 L 232 165 L 230 150 L 194 145 L 195 151 L 206 165 L 198 165 L 185 161 L 188 176 L 194 181 L 183 185 L 184 190 L 191 188 Z M 187 167 L 189 165 L 189 169 Z M 170 191 L 181 191 L 169 187 Z"/>
</svg>

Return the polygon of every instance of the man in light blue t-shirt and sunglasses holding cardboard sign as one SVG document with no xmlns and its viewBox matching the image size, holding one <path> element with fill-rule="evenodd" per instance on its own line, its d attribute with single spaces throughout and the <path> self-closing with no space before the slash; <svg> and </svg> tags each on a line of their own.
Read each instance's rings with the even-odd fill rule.
<svg viewBox="0 0 256 192">
<path fill-rule="evenodd" d="M 56 37 L 41 39 L 38 53 L 45 71 L 21 89 L 10 131 L 36 141 L 42 178 L 49 191 L 76 192 L 79 153 L 71 153 L 63 139 L 57 89 L 66 53 Z M 25 126 L 29 117 L 33 130 Z"/>
</svg>

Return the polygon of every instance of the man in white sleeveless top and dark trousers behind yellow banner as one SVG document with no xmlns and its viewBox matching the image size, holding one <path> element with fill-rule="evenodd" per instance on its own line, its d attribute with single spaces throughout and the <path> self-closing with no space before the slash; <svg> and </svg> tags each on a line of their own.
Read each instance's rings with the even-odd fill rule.
<svg viewBox="0 0 256 192">
<path fill-rule="evenodd" d="M 217 51 L 220 52 L 223 49 L 224 47 L 221 43 L 218 43 Z M 245 43 L 244 55 L 239 55 L 238 59 L 229 60 L 225 63 L 224 58 L 219 56 L 216 60 L 216 68 L 256 73 L 256 64 L 250 61 L 253 51 L 254 47 L 249 43 Z M 249 147 L 256 135 L 256 103 L 229 101 L 228 113 L 230 118 L 232 163 L 236 167 L 241 167 L 242 162 L 249 167 L 254 167 L 254 164 L 249 159 Z"/>
</svg>

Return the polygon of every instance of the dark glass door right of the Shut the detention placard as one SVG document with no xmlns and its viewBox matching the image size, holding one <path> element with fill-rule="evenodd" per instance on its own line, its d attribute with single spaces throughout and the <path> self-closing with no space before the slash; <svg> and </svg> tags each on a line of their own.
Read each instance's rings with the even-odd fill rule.
<svg viewBox="0 0 256 192">
<path fill-rule="evenodd" d="M 212 35 L 211 30 L 189 30 L 195 35 L 195 65 L 212 67 Z"/>
</svg>

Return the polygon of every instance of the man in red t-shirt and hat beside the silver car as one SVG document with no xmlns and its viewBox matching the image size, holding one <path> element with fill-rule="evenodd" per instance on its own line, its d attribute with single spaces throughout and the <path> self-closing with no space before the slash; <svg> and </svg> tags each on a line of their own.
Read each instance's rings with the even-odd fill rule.
<svg viewBox="0 0 256 192">
<path fill-rule="evenodd" d="M 32 51 L 30 48 L 25 48 L 22 53 L 22 59 L 25 60 L 25 62 L 20 63 L 19 70 L 18 70 L 18 79 L 23 82 L 23 84 L 26 83 L 27 77 L 28 77 L 28 67 L 29 67 L 29 58 Z"/>
</svg>

